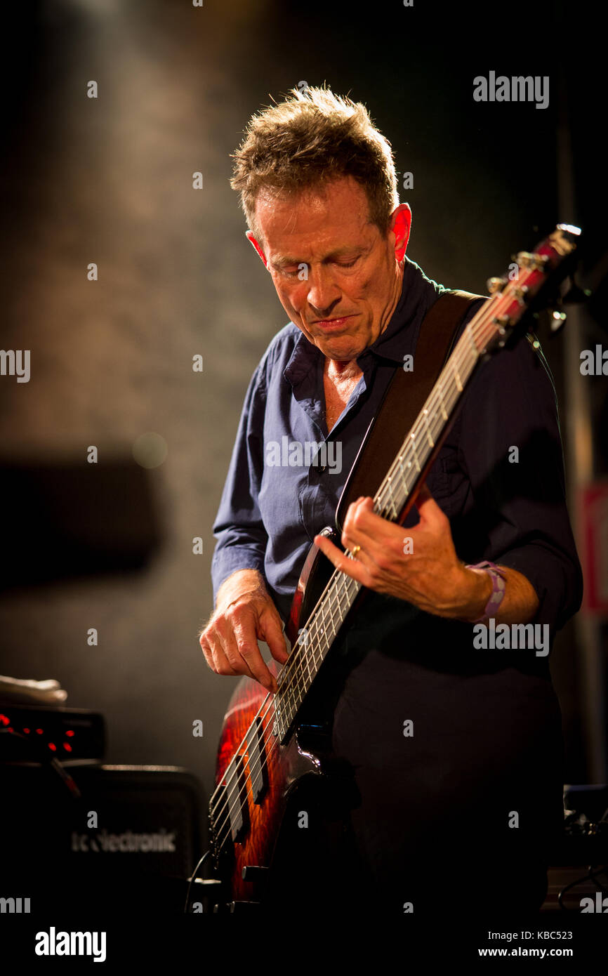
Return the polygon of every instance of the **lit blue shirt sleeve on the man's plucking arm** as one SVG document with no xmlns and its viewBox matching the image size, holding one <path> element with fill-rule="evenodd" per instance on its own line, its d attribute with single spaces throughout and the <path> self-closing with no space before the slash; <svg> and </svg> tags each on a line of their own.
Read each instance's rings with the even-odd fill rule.
<svg viewBox="0 0 608 976">
<path fill-rule="evenodd" d="M 218 540 L 211 563 L 214 604 L 218 590 L 238 569 L 263 573 L 267 534 L 258 507 L 263 473 L 264 360 L 245 396 L 232 457 L 214 522 Z"/>
</svg>

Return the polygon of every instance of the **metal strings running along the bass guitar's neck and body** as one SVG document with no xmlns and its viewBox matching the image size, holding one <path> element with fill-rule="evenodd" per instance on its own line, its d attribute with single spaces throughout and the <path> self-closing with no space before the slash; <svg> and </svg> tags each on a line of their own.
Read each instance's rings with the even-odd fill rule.
<svg viewBox="0 0 608 976">
<path fill-rule="evenodd" d="M 524 280 L 523 280 L 523 282 L 521 284 L 522 285 L 525 285 L 525 283 L 527 281 L 529 281 L 531 277 L 534 276 L 536 270 L 537 269 L 532 269 L 532 270 L 526 269 L 526 271 L 528 273 L 525 275 Z M 537 273 L 541 273 L 541 272 L 537 272 Z M 521 287 L 521 285 L 519 287 Z M 507 308 L 501 309 L 501 308 L 498 307 L 503 302 L 505 302 L 505 300 L 507 300 L 507 307 L 508 307 L 508 305 L 512 305 L 514 302 L 517 302 L 518 301 L 516 297 L 511 296 L 508 293 L 506 294 L 504 292 L 500 292 L 498 294 L 495 294 L 493 296 L 493 298 L 491 298 L 488 302 L 486 302 L 485 305 L 483 305 L 482 308 L 480 308 L 479 312 L 477 312 L 477 315 L 475 316 L 475 318 L 477 319 L 477 321 L 475 321 L 475 319 L 471 319 L 471 321 L 466 325 L 466 328 L 465 328 L 465 330 L 463 332 L 463 335 L 461 336 L 461 340 L 459 340 L 459 343 L 457 344 L 457 347 L 454 350 L 454 354 L 450 357 L 450 359 L 446 363 L 446 366 L 442 370 L 442 373 L 440 374 L 440 376 L 438 378 L 437 384 L 435 385 L 435 387 L 433 388 L 433 390 L 429 394 L 429 397 L 427 397 L 427 402 L 428 402 L 428 400 L 431 400 L 433 398 L 435 400 L 437 398 L 439 398 L 439 399 L 443 399 L 443 406 L 445 406 L 446 401 L 444 399 L 444 391 L 446 389 L 447 384 L 445 382 L 444 383 L 441 383 L 441 380 L 442 380 L 444 374 L 446 374 L 446 379 L 451 378 L 453 380 L 456 380 L 457 377 L 458 377 L 458 382 L 457 382 L 457 388 L 456 388 L 456 390 L 454 389 L 453 386 L 448 389 L 448 394 L 450 396 L 449 409 L 450 410 L 452 409 L 452 402 L 453 401 L 455 402 L 460 397 L 460 395 L 462 395 L 462 393 L 464 391 L 464 386 L 466 384 L 466 381 L 467 381 L 467 379 L 470 377 L 470 375 L 472 373 L 472 368 L 474 368 L 474 366 L 476 365 L 478 359 L 480 358 L 480 356 L 482 354 L 483 348 L 485 346 L 487 346 L 487 343 L 489 342 L 489 340 L 491 338 L 493 338 L 493 336 L 496 336 L 497 328 L 494 326 L 493 320 L 495 318 L 497 318 L 499 315 L 503 315 L 503 314 L 506 313 Z M 488 322 L 488 319 L 490 319 L 490 322 Z M 487 325 L 491 325 L 492 328 L 489 329 L 484 336 L 482 336 L 481 333 L 482 333 L 483 330 L 486 329 L 486 326 Z M 478 348 L 477 348 L 477 346 L 475 344 L 475 347 L 477 348 L 477 352 L 476 353 L 473 353 L 472 349 L 468 349 L 468 350 L 465 349 L 464 346 L 466 346 L 466 343 L 464 343 L 464 340 L 466 339 L 466 335 L 469 337 L 469 339 L 473 339 L 473 340 L 480 341 Z M 462 350 L 459 350 L 459 346 L 463 346 Z M 464 384 L 463 381 L 462 381 L 462 377 L 460 375 L 460 372 L 461 372 L 461 368 L 463 368 L 463 371 L 464 371 L 464 367 L 465 366 L 468 366 L 468 365 L 471 366 L 471 370 L 468 373 L 468 375 L 466 376 L 465 384 Z M 449 374 L 451 374 L 451 377 L 449 377 Z M 439 387 L 439 388 L 437 389 L 437 387 Z M 425 426 L 427 427 L 428 426 L 428 408 L 427 408 L 426 405 L 423 408 L 423 410 L 421 411 L 421 414 L 419 414 L 419 417 L 417 419 L 417 422 L 415 423 L 415 425 L 414 425 L 412 431 L 410 432 L 410 434 L 408 434 L 408 437 L 406 438 L 406 441 L 404 441 L 404 445 L 402 445 L 402 450 L 397 455 L 397 458 L 395 458 L 395 460 L 393 461 L 393 463 L 391 465 L 391 468 L 389 468 L 389 471 L 388 471 L 388 473 L 387 473 L 387 475 L 385 477 L 385 481 L 381 485 L 381 487 L 379 489 L 379 492 L 377 493 L 377 496 L 376 496 L 376 498 L 374 500 L 375 507 L 376 507 L 376 504 L 381 501 L 381 497 L 382 497 L 382 495 L 385 492 L 387 492 L 387 494 L 390 496 L 391 491 L 392 491 L 392 489 L 391 489 L 391 478 L 392 478 L 392 476 L 394 474 L 394 469 L 395 468 L 397 468 L 397 469 L 400 469 L 401 468 L 399 462 L 402 460 L 403 455 L 405 455 L 408 447 L 410 446 L 410 444 L 412 442 L 414 442 L 414 443 L 412 443 L 412 449 L 413 449 L 414 457 L 415 457 L 415 459 L 417 461 L 417 467 L 419 468 L 419 473 L 420 473 L 420 470 L 422 468 L 420 468 L 420 464 L 418 462 L 418 456 L 416 454 L 416 447 L 415 447 L 415 440 L 416 440 L 416 436 L 417 435 L 420 435 L 421 431 L 420 430 L 418 430 L 418 432 L 415 432 L 415 431 L 416 431 L 416 428 L 417 427 L 420 428 L 420 427 L 423 426 L 423 422 L 422 422 L 422 419 L 423 418 L 425 419 Z M 432 423 L 434 424 L 435 421 L 438 420 L 438 419 L 439 419 L 438 418 L 438 415 L 435 413 L 435 416 L 432 418 Z M 448 419 L 449 419 L 449 417 L 448 417 Z M 443 418 L 442 418 L 442 420 L 445 423 L 445 420 Z M 440 423 L 439 424 L 439 429 L 441 429 L 441 427 L 442 427 L 442 425 Z M 434 434 L 434 430 L 433 430 L 433 434 Z M 411 462 L 410 462 L 410 467 L 411 467 Z M 401 475 L 403 477 L 402 468 L 401 468 Z M 405 484 L 405 481 L 404 481 L 404 484 Z M 405 484 L 405 487 L 406 487 L 406 491 L 409 492 L 409 489 L 407 488 L 407 485 L 406 484 Z M 406 496 L 406 498 L 407 498 L 407 496 Z M 395 510 L 395 507 L 394 507 L 394 499 L 390 499 L 390 504 L 391 504 L 391 507 L 393 508 L 393 511 L 394 511 Z M 395 517 L 397 517 L 397 515 L 395 515 Z M 351 553 L 348 553 L 348 554 L 351 556 Z M 341 571 L 335 571 L 335 573 L 332 575 L 332 578 L 330 579 L 329 584 L 326 587 L 326 590 L 321 595 L 321 597 L 320 597 L 320 599 L 319 599 L 319 601 L 317 603 L 317 607 L 315 607 L 313 609 L 312 613 L 310 614 L 310 618 L 309 619 L 312 620 L 312 618 L 314 618 L 314 620 L 312 620 L 312 624 L 310 625 L 310 628 L 314 624 L 317 624 L 317 619 L 316 619 L 317 608 L 318 608 L 319 604 L 324 600 L 324 598 L 328 595 L 328 593 L 330 595 L 330 603 L 331 603 L 331 598 L 332 598 L 331 597 L 331 590 L 334 589 L 334 585 L 337 584 L 337 582 L 338 582 L 337 579 L 335 579 L 335 577 L 337 576 L 337 574 L 339 574 L 343 578 L 343 580 L 352 580 L 351 577 L 346 576 Z M 354 581 L 354 582 L 356 582 L 356 581 Z M 323 614 L 324 613 L 325 613 L 325 610 L 323 610 Z M 342 627 L 342 623 L 341 623 L 340 626 Z M 304 628 L 304 630 L 306 630 L 307 634 L 309 635 L 310 630 L 308 628 Z M 336 632 L 337 632 L 337 630 L 335 630 L 335 633 Z M 318 635 L 318 627 L 317 627 L 317 635 Z M 333 638 L 332 638 L 332 642 L 333 642 Z M 331 644 L 330 644 L 330 646 L 331 646 Z M 320 647 L 318 649 L 320 650 Z M 327 653 L 327 651 L 326 651 L 326 653 Z M 300 666 L 302 664 L 302 662 L 299 660 L 299 655 L 301 655 L 301 654 L 304 654 L 304 660 L 306 660 L 305 650 L 303 648 L 303 644 L 299 641 L 296 644 L 296 654 L 293 655 L 289 659 L 289 661 L 285 663 L 283 669 L 279 672 L 279 675 L 277 676 L 277 683 L 278 683 L 279 678 L 282 678 L 283 675 L 285 674 L 285 672 L 288 671 L 290 665 L 292 665 L 292 668 L 289 669 L 289 670 L 290 671 L 293 671 L 298 666 Z M 322 663 L 323 660 L 324 660 L 324 657 L 321 656 L 321 663 Z M 313 661 L 314 661 L 314 651 L 313 651 Z M 316 661 L 314 661 L 314 664 L 316 665 Z M 309 668 L 308 668 L 308 671 L 309 671 Z M 315 671 L 315 675 L 316 675 L 316 671 Z M 287 675 L 287 677 L 289 678 L 289 674 Z M 298 680 L 300 680 L 300 673 L 298 674 Z M 289 681 L 288 691 L 293 692 L 293 680 L 290 680 Z M 279 693 L 277 693 L 277 695 L 280 694 L 280 692 L 281 692 L 281 689 L 279 689 Z M 305 694 L 305 692 L 304 692 L 304 694 Z M 276 697 L 277 696 L 274 696 L 274 699 L 276 699 Z M 294 699 L 294 701 L 296 701 L 296 700 Z M 268 712 L 268 709 L 265 710 L 265 712 L 263 713 L 263 715 L 260 714 L 260 712 L 262 712 L 262 710 L 263 710 L 263 708 L 264 708 L 264 706 L 266 704 L 268 704 L 268 707 L 271 704 L 273 704 L 273 699 L 271 698 L 271 696 L 269 694 L 266 695 L 266 698 L 264 699 L 263 704 L 262 704 L 262 706 L 261 706 L 258 714 L 254 718 L 254 721 L 251 723 L 252 725 L 256 722 L 256 719 L 258 717 L 261 717 L 262 719 L 264 719 L 266 717 L 267 712 Z M 288 699 L 288 706 L 289 706 L 289 704 L 290 703 L 289 703 L 289 699 Z M 302 702 L 300 703 L 300 705 L 301 704 L 302 704 Z M 296 712 L 300 708 L 300 705 L 297 705 L 296 706 Z M 282 711 L 282 703 L 279 703 L 279 708 L 278 708 L 279 714 L 280 714 L 281 711 Z M 288 728 L 289 727 L 289 724 L 291 724 L 291 722 L 293 721 L 293 717 L 294 716 L 295 716 L 295 713 L 294 713 L 294 715 L 292 715 L 290 717 L 289 722 L 285 726 L 285 728 Z M 250 729 L 251 729 L 251 726 L 250 726 Z M 265 727 L 263 728 L 263 730 L 265 731 Z M 242 758 L 242 754 L 239 752 L 239 750 L 241 749 L 241 747 L 243 745 L 246 745 L 246 746 L 249 745 L 247 743 L 247 735 L 248 734 L 249 734 L 249 730 L 248 730 L 248 733 L 246 734 L 245 738 L 241 742 L 241 745 L 238 747 L 237 751 L 234 753 L 232 759 L 230 760 L 231 762 L 236 758 L 237 755 L 239 755 L 239 757 Z M 273 752 L 273 750 L 276 747 L 277 743 L 280 743 L 280 737 L 275 737 L 275 741 L 274 741 L 274 743 L 270 744 L 269 749 L 268 750 L 264 750 L 264 759 L 263 759 L 263 761 L 260 761 L 260 763 L 259 763 L 261 769 L 260 769 L 260 772 L 258 773 L 258 776 L 256 777 L 256 781 L 255 781 L 256 784 L 257 784 L 257 782 L 258 782 L 258 780 L 260 778 L 260 775 L 261 774 L 263 775 L 263 768 L 268 764 L 269 755 L 271 754 L 271 752 Z M 238 772 L 236 771 L 236 769 L 234 769 L 233 772 L 232 772 L 232 782 L 234 780 L 238 781 Z M 231 798 L 232 798 L 232 796 L 234 794 L 234 790 L 231 790 L 229 793 L 226 793 L 226 790 L 227 790 L 228 786 L 230 785 L 230 782 L 231 781 L 228 779 L 227 782 L 220 783 L 218 785 L 216 791 L 214 792 L 212 798 L 211 798 L 210 806 L 211 806 L 211 803 L 214 802 L 217 793 L 220 793 L 220 792 L 224 793 L 223 807 L 220 807 L 219 808 L 218 807 L 218 803 L 216 802 L 216 806 L 214 808 L 214 812 L 213 812 L 213 815 L 212 815 L 212 819 L 213 819 L 213 817 L 216 817 L 217 818 L 220 815 L 220 813 L 222 812 L 222 810 L 226 806 L 226 804 L 228 805 L 228 807 L 230 805 L 230 800 L 231 800 Z M 240 788 L 238 786 L 238 782 L 236 782 L 236 788 L 237 788 L 238 792 L 240 792 Z M 249 796 L 249 794 L 250 794 L 250 792 L 249 792 L 249 790 L 247 788 L 247 784 L 246 784 L 246 795 Z M 228 809 L 227 821 L 229 821 L 229 809 Z M 214 824 L 214 829 L 216 829 L 218 831 L 218 834 L 219 834 L 220 831 L 223 830 L 223 826 L 224 826 L 224 824 L 227 821 L 224 820 L 223 821 L 223 825 L 221 825 L 219 828 L 216 828 L 216 825 Z M 230 830 L 228 829 L 228 834 L 229 833 L 230 833 Z M 223 840 L 222 840 L 220 846 L 223 846 Z"/>
</svg>

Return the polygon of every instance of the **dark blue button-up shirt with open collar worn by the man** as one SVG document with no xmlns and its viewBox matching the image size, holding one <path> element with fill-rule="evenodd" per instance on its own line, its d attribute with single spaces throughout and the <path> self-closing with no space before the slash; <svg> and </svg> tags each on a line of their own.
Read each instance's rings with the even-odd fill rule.
<svg viewBox="0 0 608 976">
<path fill-rule="evenodd" d="M 323 354 L 293 323 L 274 337 L 247 390 L 214 524 L 215 594 L 236 570 L 257 569 L 287 618 L 312 539 L 334 524 L 385 388 L 404 357 L 415 356 L 426 311 L 445 290 L 405 259 L 400 300 L 385 331 L 358 357 L 363 376 L 330 432 Z M 512 447 L 516 463 L 508 460 Z M 552 639 L 580 605 L 582 577 L 565 505 L 555 391 L 540 347 L 524 339 L 479 367 L 426 484 L 450 518 L 459 557 L 523 573 L 540 599 L 535 622 L 548 623 Z M 405 524 L 416 521 L 414 509 Z M 406 601 L 392 601 L 391 609 L 428 621 Z M 470 646 L 469 625 L 446 624 L 467 627 Z"/>
</svg>

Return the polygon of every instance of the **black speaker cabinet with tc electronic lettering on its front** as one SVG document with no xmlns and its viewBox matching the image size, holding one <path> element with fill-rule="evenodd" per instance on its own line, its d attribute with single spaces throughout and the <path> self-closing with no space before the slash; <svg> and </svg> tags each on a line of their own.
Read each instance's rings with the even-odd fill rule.
<svg viewBox="0 0 608 976">
<path fill-rule="evenodd" d="M 182 912 L 203 850 L 206 797 L 177 766 L 0 765 L 0 896 L 30 912 Z"/>
</svg>

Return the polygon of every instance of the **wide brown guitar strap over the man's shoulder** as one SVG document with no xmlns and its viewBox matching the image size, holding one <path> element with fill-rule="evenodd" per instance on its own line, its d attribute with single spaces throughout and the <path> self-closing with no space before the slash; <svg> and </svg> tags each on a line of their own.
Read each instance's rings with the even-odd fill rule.
<svg viewBox="0 0 608 976">
<path fill-rule="evenodd" d="M 466 312 L 481 299 L 481 295 L 454 289 L 444 292 L 426 312 L 416 344 L 414 369 L 406 372 L 396 368 L 346 480 L 336 511 L 336 524 L 341 531 L 346 508 L 362 496 L 375 496 L 447 362 Z"/>
</svg>

